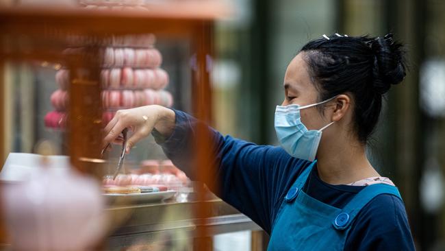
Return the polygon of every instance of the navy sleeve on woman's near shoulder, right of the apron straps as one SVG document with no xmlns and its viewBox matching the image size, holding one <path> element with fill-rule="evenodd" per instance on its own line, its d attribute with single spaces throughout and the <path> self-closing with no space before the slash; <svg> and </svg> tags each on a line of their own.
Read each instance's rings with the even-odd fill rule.
<svg viewBox="0 0 445 251">
<path fill-rule="evenodd" d="M 415 250 L 405 206 L 394 195 L 378 195 L 356 220 L 345 250 Z"/>
</svg>

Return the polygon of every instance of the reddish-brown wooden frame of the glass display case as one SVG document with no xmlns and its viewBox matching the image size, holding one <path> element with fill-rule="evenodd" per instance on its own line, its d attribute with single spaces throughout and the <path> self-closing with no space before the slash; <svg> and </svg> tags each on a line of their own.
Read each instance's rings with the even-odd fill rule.
<svg viewBox="0 0 445 251">
<path fill-rule="evenodd" d="M 192 110 L 203 121 L 212 121 L 212 91 L 209 77 L 209 58 L 213 55 L 213 27 L 216 19 L 229 16 L 229 6 L 220 1 L 166 1 L 163 4 L 145 5 L 142 10 L 86 10 L 84 8 L 0 8 L 0 93 L 5 95 L 3 66 L 5 62 L 29 62 L 33 60 L 64 62 L 66 56 L 61 53 L 68 46 L 66 38 L 76 36 L 105 38 L 113 35 L 147 34 L 190 40 L 191 50 L 196 55 L 196 65 L 192 67 Z M 18 43 L 8 43 L 17 40 Z M 6 41 L 6 42 L 5 42 Z M 93 51 L 94 53 L 94 51 Z M 73 166 L 80 171 L 94 175 L 94 167 L 81 164 L 79 158 L 101 158 L 101 86 L 99 84 L 98 62 L 84 59 L 66 62 L 68 68 L 75 70 L 88 66 L 97 67 L 97 74 L 92 74 L 88 81 L 77 81 L 71 75 L 69 87 L 71 104 L 68 109 L 68 154 Z M 86 101 L 89 100 L 89 101 Z M 0 102 L 0 122 L 5 122 L 5 107 Z M 199 134 L 199 128 L 198 135 Z M 5 130 L 0 130 L 0 159 L 5 160 L 8 147 L 5 145 Z M 82 135 L 82 136 L 79 136 Z M 199 178 L 207 180 L 208 166 L 206 158 L 209 152 L 209 139 L 198 137 L 201 151 L 196 168 Z M 204 192 L 198 195 L 203 200 Z M 1 208 L 1 204 L 0 204 Z M 197 203 L 196 219 L 206 219 L 210 208 L 208 203 Z M 0 244 L 5 243 L 6 233 L 1 228 Z M 197 228 L 198 236 L 194 239 L 196 250 L 209 250 L 205 239 L 206 228 Z"/>
</svg>

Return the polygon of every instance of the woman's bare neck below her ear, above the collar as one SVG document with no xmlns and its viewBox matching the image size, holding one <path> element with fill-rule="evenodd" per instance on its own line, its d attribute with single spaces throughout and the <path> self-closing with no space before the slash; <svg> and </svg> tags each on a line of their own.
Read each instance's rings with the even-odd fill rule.
<svg viewBox="0 0 445 251">
<path fill-rule="evenodd" d="M 317 159 L 318 176 L 328 184 L 350 184 L 379 176 L 366 157 L 365 145 L 347 137 L 341 142 L 337 139 L 335 145 L 320 144 Z"/>
</svg>

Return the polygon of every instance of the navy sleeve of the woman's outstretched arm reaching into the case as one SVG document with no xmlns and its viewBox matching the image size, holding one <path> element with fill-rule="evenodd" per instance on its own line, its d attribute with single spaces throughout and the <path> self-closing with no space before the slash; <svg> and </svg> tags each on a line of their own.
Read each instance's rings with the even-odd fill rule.
<svg viewBox="0 0 445 251">
<path fill-rule="evenodd" d="M 174 111 L 176 126 L 173 134 L 164 140 L 156 134 L 154 136 L 166 156 L 192 180 L 196 180 L 192 145 L 196 138 L 196 125 L 202 122 L 185 112 Z M 200 136 L 212 139 L 214 158 L 208 165 L 212 167 L 211 180 L 201 181 L 216 182 L 216 188 L 209 187 L 218 197 L 270 233 L 284 193 L 309 163 L 292 158 L 281 147 L 255 145 L 223 136 L 207 125 L 204 128 L 204 132 L 200 132 L 205 135 Z"/>
</svg>

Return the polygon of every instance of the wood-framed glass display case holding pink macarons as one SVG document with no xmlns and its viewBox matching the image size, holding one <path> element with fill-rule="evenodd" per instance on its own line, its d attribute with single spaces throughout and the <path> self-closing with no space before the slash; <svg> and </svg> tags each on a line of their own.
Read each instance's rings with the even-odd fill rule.
<svg viewBox="0 0 445 251">
<path fill-rule="evenodd" d="M 117 110 L 157 104 L 212 121 L 212 27 L 229 6 L 80 1 L 0 13 L 0 250 L 209 250 L 214 235 L 260 230 L 152 136 L 115 177 L 120 147 L 101 153 Z M 196 139 L 200 180 L 210 143 Z"/>
</svg>

